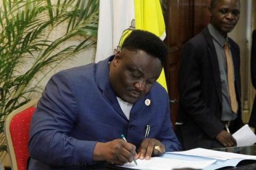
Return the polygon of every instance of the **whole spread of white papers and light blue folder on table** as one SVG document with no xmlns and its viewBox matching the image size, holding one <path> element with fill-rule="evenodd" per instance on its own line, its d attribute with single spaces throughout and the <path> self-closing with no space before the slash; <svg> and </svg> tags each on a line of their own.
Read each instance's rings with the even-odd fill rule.
<svg viewBox="0 0 256 170">
<path fill-rule="evenodd" d="M 213 170 L 225 166 L 236 166 L 244 159 L 256 161 L 256 156 L 196 148 L 187 151 L 166 152 L 162 157 L 153 157 L 150 160 L 137 159 L 138 166 L 132 162 L 121 167 L 148 170 L 176 168 Z"/>
</svg>

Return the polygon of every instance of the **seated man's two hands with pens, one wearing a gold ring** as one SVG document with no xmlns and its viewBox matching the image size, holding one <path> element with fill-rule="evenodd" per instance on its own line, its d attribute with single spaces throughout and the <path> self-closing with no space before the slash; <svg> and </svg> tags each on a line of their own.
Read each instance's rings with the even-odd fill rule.
<svg viewBox="0 0 256 170">
<path fill-rule="evenodd" d="M 165 146 L 157 139 L 148 138 L 150 125 L 145 127 L 145 139 L 140 143 L 138 155 L 136 147 L 126 141 L 124 135 L 122 139 L 116 139 L 110 142 L 98 142 L 93 152 L 93 161 L 106 161 L 111 164 L 123 165 L 134 162 L 136 159 L 150 159 L 151 156 L 161 156 L 165 152 Z"/>
</svg>

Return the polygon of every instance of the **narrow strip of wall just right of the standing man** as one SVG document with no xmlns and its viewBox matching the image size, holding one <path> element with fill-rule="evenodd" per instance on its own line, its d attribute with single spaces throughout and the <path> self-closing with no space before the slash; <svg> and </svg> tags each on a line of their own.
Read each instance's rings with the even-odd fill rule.
<svg viewBox="0 0 256 170">
<path fill-rule="evenodd" d="M 251 47 L 251 0 L 242 0 L 240 19 L 229 37 L 236 41 L 241 51 L 241 85 L 243 121 L 247 123 L 251 109 L 251 77 L 250 77 L 250 47 Z"/>
</svg>

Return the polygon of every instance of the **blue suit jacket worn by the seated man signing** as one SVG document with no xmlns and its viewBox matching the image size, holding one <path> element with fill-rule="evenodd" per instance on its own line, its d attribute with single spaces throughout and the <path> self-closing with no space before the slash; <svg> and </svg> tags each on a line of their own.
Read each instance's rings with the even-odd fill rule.
<svg viewBox="0 0 256 170">
<path fill-rule="evenodd" d="M 30 126 L 29 169 L 92 164 L 97 141 L 108 142 L 121 134 L 138 149 L 146 125 L 151 127 L 148 138 L 161 141 L 166 151 L 180 149 L 169 98 L 160 84 L 133 105 L 127 120 L 109 83 L 112 58 L 61 71 L 47 83 Z"/>
</svg>

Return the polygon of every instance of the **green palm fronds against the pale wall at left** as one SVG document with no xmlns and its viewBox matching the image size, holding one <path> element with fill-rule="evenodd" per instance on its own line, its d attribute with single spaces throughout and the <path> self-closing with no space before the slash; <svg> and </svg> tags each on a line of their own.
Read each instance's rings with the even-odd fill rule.
<svg viewBox="0 0 256 170">
<path fill-rule="evenodd" d="M 95 45 L 99 1 L 2 0 L 0 6 L 0 151 L 6 116 L 26 104 L 47 73 Z M 0 4 L 1 5 L 1 4 Z M 65 24 L 65 27 L 60 25 Z M 65 28 L 61 37 L 52 34 Z M 68 40 L 83 37 L 77 45 Z M 38 77 L 38 75 L 41 75 Z M 43 76 L 42 76 L 43 75 Z M 32 81 L 36 83 L 31 84 Z"/>
</svg>

